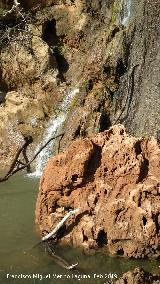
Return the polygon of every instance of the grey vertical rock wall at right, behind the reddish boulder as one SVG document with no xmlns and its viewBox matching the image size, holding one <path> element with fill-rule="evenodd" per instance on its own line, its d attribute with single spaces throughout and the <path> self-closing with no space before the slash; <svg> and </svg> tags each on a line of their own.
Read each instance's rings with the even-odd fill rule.
<svg viewBox="0 0 160 284">
<path fill-rule="evenodd" d="M 160 3 L 131 1 L 130 24 L 127 25 L 127 70 L 121 76 L 115 117 L 124 123 L 132 135 L 154 135 L 159 130 L 159 36 Z M 113 54 L 117 54 L 116 50 Z M 114 55 L 115 56 L 115 55 Z"/>
</svg>

